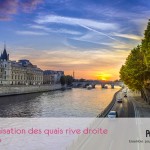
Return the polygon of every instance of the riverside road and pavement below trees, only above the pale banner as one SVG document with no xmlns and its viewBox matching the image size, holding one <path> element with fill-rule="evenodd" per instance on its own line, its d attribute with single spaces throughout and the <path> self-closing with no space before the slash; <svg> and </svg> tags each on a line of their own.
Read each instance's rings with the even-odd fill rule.
<svg viewBox="0 0 150 150">
<path fill-rule="evenodd" d="M 123 92 L 117 94 L 116 100 L 120 95 L 123 95 Z M 112 110 L 117 111 L 120 118 L 150 117 L 150 105 L 141 98 L 140 92 L 131 90 L 128 90 L 122 103 L 115 102 Z"/>
</svg>

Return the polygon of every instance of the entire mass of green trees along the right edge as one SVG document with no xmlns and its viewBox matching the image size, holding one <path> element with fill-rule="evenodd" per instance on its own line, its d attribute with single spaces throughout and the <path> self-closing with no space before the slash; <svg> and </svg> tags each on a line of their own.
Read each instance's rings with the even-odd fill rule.
<svg viewBox="0 0 150 150">
<path fill-rule="evenodd" d="M 131 50 L 122 65 L 120 79 L 132 90 L 150 88 L 150 19 L 141 43 Z"/>
</svg>

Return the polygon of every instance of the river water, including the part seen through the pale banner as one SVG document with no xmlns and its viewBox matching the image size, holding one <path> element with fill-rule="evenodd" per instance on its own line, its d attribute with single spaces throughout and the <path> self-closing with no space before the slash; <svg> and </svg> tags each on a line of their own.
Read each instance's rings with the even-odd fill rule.
<svg viewBox="0 0 150 150">
<path fill-rule="evenodd" d="M 26 130 L 34 128 L 36 130 L 43 129 L 43 131 L 59 128 L 64 130 L 84 129 L 109 104 L 118 90 L 117 87 L 115 89 L 96 87 L 92 90 L 75 88 L 66 91 L 0 97 L 0 117 L 9 117 L 7 119 L 0 118 L 0 127 Z M 26 118 L 12 119 L 12 117 Z M 45 134 L 4 134 L 0 138 L 2 139 L 0 149 L 66 150 L 73 140 L 79 137 L 74 134 L 50 136 Z"/>
</svg>

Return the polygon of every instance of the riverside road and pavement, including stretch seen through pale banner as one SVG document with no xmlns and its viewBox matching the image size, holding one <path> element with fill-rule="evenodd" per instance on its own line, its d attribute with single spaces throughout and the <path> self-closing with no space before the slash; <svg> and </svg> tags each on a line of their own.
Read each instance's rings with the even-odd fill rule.
<svg viewBox="0 0 150 150">
<path fill-rule="evenodd" d="M 123 102 L 118 103 L 118 98 L 122 97 Z M 111 110 L 118 112 L 119 119 L 103 119 L 98 120 L 93 128 L 105 127 L 108 129 L 107 136 L 90 135 L 88 138 L 78 138 L 76 142 L 68 148 L 68 150 L 146 150 L 149 145 L 131 143 L 130 140 L 138 141 L 144 139 L 145 130 L 143 130 L 142 120 L 139 117 L 147 117 L 150 115 L 150 106 L 146 104 L 140 97 L 140 94 L 132 91 L 127 92 L 127 98 L 121 91 L 116 95 L 116 102 Z M 125 118 L 126 117 L 126 118 Z M 133 118 L 136 119 L 133 119 Z M 137 118 L 138 117 L 138 118 Z M 122 119 L 124 118 L 124 119 Z M 92 128 L 92 127 L 91 127 Z"/>
</svg>

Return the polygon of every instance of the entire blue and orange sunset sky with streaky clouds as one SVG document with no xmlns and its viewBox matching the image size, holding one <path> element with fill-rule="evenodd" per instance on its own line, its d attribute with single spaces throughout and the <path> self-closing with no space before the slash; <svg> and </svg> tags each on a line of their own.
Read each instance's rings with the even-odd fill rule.
<svg viewBox="0 0 150 150">
<path fill-rule="evenodd" d="M 0 0 L 0 50 L 75 78 L 119 79 L 150 18 L 146 0 Z"/>
</svg>

